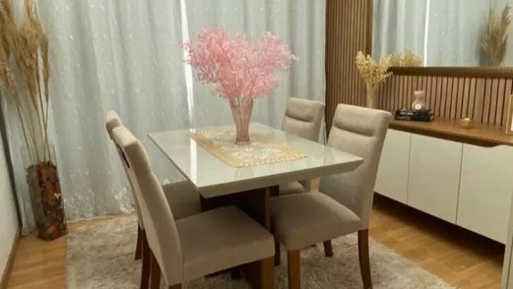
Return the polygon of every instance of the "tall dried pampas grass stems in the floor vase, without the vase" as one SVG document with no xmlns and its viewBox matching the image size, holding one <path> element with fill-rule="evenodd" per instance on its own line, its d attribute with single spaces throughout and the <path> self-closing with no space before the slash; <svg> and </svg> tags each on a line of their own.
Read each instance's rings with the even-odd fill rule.
<svg viewBox="0 0 513 289">
<path fill-rule="evenodd" d="M 24 4 L 23 18 L 17 25 L 12 0 L 0 0 L 0 87 L 16 104 L 30 161 L 37 164 L 51 161 L 48 142 L 49 45 L 34 3 L 25 0 Z M 9 65 L 11 56 L 19 70 L 18 82 Z"/>
</svg>

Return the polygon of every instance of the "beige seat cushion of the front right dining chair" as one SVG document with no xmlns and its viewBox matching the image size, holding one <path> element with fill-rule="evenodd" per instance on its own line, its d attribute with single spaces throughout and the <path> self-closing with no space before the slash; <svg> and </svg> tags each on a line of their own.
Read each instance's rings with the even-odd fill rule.
<svg viewBox="0 0 513 289">
<path fill-rule="evenodd" d="M 359 217 L 321 192 L 271 198 L 274 235 L 287 250 L 353 233 Z"/>
</svg>

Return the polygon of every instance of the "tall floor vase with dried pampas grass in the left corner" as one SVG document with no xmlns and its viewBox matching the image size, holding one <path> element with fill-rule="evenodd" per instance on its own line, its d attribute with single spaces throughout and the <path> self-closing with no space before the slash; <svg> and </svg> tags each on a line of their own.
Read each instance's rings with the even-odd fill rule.
<svg viewBox="0 0 513 289">
<path fill-rule="evenodd" d="M 16 106 L 23 130 L 30 159 L 27 184 L 38 237 L 54 240 L 66 235 L 68 230 L 58 171 L 52 161 L 48 138 L 48 37 L 32 0 L 25 0 L 20 25 L 16 25 L 14 19 L 12 0 L 0 0 L 0 4 L 0 85 L 4 96 Z M 14 66 L 18 73 L 13 73 Z"/>
</svg>

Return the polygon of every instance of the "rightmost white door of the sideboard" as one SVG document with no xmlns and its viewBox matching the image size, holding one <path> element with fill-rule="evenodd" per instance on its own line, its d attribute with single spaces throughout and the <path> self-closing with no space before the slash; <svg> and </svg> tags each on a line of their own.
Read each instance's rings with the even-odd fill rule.
<svg viewBox="0 0 513 289">
<path fill-rule="evenodd" d="M 513 147 L 463 144 L 457 224 L 506 243 L 513 193 Z"/>
</svg>

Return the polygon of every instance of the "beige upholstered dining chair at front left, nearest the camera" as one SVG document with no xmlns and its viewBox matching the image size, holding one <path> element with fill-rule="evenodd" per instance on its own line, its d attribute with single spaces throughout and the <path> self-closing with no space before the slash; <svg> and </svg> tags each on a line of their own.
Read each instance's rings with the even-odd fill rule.
<svg viewBox="0 0 513 289">
<path fill-rule="evenodd" d="M 161 274 L 168 288 L 179 289 L 185 281 L 252 262 L 262 269 L 261 288 L 273 288 L 271 233 L 232 206 L 175 220 L 141 142 L 125 127 L 114 128 L 113 138 L 139 202 L 152 289 L 160 288 Z"/>
</svg>

